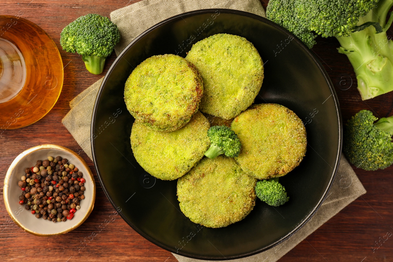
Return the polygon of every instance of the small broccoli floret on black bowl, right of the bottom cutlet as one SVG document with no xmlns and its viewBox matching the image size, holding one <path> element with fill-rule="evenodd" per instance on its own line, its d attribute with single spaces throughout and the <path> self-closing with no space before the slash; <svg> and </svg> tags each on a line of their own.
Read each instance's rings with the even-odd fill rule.
<svg viewBox="0 0 393 262">
<path fill-rule="evenodd" d="M 278 182 L 278 178 L 258 181 L 255 186 L 255 193 L 263 202 L 274 207 L 284 205 L 289 200 L 289 196 L 286 196 L 285 187 Z"/>
</svg>

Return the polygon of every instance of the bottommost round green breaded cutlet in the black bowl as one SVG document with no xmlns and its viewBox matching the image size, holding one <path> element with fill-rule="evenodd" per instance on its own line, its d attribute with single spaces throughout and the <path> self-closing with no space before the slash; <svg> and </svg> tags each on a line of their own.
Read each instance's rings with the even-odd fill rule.
<svg viewBox="0 0 393 262">
<path fill-rule="evenodd" d="M 252 211 L 256 182 L 233 158 L 203 158 L 177 181 L 180 209 L 194 223 L 226 227 Z"/>
</svg>

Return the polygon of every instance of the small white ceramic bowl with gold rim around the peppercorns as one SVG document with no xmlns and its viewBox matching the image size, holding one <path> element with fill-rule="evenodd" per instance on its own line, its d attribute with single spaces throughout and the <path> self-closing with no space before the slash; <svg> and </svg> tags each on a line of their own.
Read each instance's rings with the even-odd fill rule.
<svg viewBox="0 0 393 262">
<path fill-rule="evenodd" d="M 75 216 L 71 220 L 65 222 L 53 223 L 49 220 L 36 218 L 30 210 L 24 208 L 25 204 L 18 203 L 21 193 L 18 181 L 24 176 L 25 168 L 33 167 L 37 160 L 43 161 L 48 156 L 53 158 L 61 156 L 68 159 L 69 163 L 75 165 L 83 173 L 83 178 L 86 180 L 84 183 L 84 187 L 86 187 L 85 198 L 80 201 L 81 209 L 75 212 Z M 25 150 L 12 162 L 4 179 L 3 196 L 9 216 L 24 231 L 36 236 L 62 235 L 79 227 L 92 212 L 95 201 L 95 182 L 86 162 L 72 150 L 59 145 L 39 145 Z"/>
</svg>

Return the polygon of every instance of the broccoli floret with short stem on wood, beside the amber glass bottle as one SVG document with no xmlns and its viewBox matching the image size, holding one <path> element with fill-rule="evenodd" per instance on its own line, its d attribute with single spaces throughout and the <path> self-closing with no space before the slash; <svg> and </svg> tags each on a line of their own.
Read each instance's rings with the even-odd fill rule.
<svg viewBox="0 0 393 262">
<path fill-rule="evenodd" d="M 60 34 L 62 48 L 82 55 L 86 69 L 95 75 L 102 73 L 105 59 L 119 41 L 118 27 L 108 17 L 96 14 L 77 18 Z"/>
</svg>

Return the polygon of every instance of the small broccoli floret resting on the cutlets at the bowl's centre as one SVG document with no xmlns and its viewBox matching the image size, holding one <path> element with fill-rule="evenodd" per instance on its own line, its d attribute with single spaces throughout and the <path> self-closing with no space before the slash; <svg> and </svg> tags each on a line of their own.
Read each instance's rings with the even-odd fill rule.
<svg viewBox="0 0 393 262">
<path fill-rule="evenodd" d="M 227 126 L 212 126 L 208 130 L 210 147 L 205 152 L 208 158 L 216 158 L 220 154 L 225 154 L 230 158 L 239 156 L 241 143 L 237 135 Z"/>
</svg>

